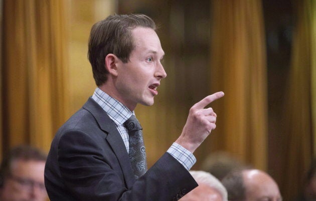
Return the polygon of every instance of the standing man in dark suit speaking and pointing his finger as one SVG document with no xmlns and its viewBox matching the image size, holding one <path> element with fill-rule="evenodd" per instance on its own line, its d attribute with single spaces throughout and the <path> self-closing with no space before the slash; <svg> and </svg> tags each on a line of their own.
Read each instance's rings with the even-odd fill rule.
<svg viewBox="0 0 316 201">
<path fill-rule="evenodd" d="M 93 25 L 88 57 L 98 86 L 57 132 L 45 166 L 51 201 L 178 200 L 197 186 L 189 173 L 195 149 L 215 129 L 204 109 L 223 92 L 195 104 L 180 137 L 147 170 L 138 103 L 152 105 L 167 74 L 154 22 L 114 15 Z"/>
</svg>

